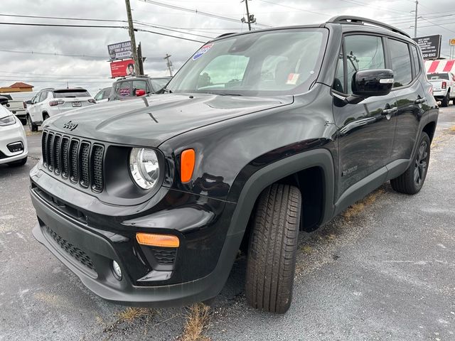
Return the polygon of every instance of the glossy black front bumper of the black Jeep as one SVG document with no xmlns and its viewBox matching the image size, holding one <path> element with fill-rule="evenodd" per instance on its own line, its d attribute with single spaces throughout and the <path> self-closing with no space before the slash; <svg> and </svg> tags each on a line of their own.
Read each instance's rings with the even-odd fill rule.
<svg viewBox="0 0 455 341">
<path fill-rule="evenodd" d="M 46 177 L 45 173 L 40 175 L 40 178 Z M 198 224 L 189 217 L 191 211 L 188 207 L 178 207 L 132 220 L 117 217 L 115 220 L 122 220 L 122 227 L 106 229 L 102 220 L 107 218 L 98 214 L 93 217 L 85 207 L 75 214 L 70 210 L 74 207 L 69 204 L 52 195 L 43 195 L 43 190 L 34 180 L 40 182 L 40 179 L 32 178 L 31 186 L 31 199 L 38 216 L 38 223 L 33 228 L 34 237 L 98 296 L 124 305 L 167 307 L 205 301 L 215 297 L 223 288 L 243 235 L 227 233 L 228 217 L 232 215 L 234 204 L 229 203 L 223 213 L 218 212 L 220 218 L 215 223 L 207 220 Z M 58 188 L 63 184 L 54 181 L 54 185 Z M 164 190 L 169 192 L 165 200 L 176 195 L 172 190 Z M 74 193 L 70 195 L 74 196 Z M 193 199 L 193 207 L 198 205 L 197 202 L 207 201 L 203 197 Z M 65 205 L 68 210 L 63 208 Z M 180 219 L 182 212 L 188 218 L 187 221 L 183 219 L 183 224 Z M 94 227 L 96 224 L 99 226 Z M 161 267 L 151 264 L 153 261 L 149 261 L 149 256 L 134 238 L 136 232 L 158 230 L 176 234 L 181 240 L 171 270 L 162 264 Z M 112 272 L 112 261 L 117 261 L 122 269 L 121 280 Z"/>
</svg>

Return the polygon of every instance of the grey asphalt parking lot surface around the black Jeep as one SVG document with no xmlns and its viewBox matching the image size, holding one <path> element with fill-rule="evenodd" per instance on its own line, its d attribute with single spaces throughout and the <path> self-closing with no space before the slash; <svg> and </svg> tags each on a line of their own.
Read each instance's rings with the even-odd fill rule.
<svg viewBox="0 0 455 341">
<path fill-rule="evenodd" d="M 300 234 L 294 301 L 285 315 L 245 303 L 245 257 L 211 303 L 211 340 L 455 340 L 455 106 L 442 108 L 429 173 L 414 196 L 386 183 L 312 233 Z M 188 308 L 125 307 L 87 291 L 31 235 L 29 160 L 0 166 L 0 340 L 175 340 Z M 203 339 L 201 339 L 203 340 Z"/>
</svg>

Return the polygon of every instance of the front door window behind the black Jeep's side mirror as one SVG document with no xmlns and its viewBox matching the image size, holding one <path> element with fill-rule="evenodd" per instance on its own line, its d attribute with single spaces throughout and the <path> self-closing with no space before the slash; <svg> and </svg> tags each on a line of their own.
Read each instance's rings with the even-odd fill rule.
<svg viewBox="0 0 455 341">
<path fill-rule="evenodd" d="M 354 35 L 344 38 L 346 51 L 346 92 L 352 94 L 352 80 L 355 72 L 385 68 L 382 38 L 377 36 Z"/>
</svg>

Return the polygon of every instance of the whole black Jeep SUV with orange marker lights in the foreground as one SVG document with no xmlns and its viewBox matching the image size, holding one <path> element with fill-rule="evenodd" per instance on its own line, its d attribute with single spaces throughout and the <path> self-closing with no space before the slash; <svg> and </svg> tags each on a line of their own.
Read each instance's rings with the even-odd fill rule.
<svg viewBox="0 0 455 341">
<path fill-rule="evenodd" d="M 46 121 L 33 234 L 97 295 L 147 306 L 213 298 L 246 244 L 248 303 L 284 313 L 299 229 L 387 180 L 422 188 L 430 88 L 414 41 L 364 18 L 216 38 L 162 94 Z"/>
</svg>

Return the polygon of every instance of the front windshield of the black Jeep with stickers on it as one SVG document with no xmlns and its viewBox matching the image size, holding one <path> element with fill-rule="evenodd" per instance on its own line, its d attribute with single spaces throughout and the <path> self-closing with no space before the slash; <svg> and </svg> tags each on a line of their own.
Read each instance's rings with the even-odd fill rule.
<svg viewBox="0 0 455 341">
<path fill-rule="evenodd" d="M 309 90 L 319 74 L 327 30 L 293 28 L 205 44 L 169 82 L 171 92 L 250 96 Z"/>
</svg>

